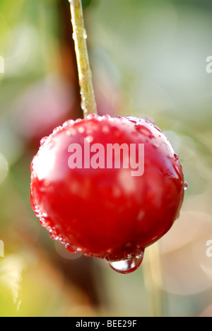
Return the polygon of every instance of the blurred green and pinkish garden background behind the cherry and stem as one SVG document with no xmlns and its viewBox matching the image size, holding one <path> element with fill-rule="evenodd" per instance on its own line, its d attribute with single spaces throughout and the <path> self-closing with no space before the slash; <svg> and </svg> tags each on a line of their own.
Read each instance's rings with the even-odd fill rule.
<svg viewBox="0 0 212 331">
<path fill-rule="evenodd" d="M 184 167 L 184 205 L 133 274 L 49 238 L 30 162 L 42 137 L 82 117 L 69 1 L 0 0 L 0 316 L 212 316 L 212 1 L 83 7 L 98 112 L 153 117 Z"/>
</svg>

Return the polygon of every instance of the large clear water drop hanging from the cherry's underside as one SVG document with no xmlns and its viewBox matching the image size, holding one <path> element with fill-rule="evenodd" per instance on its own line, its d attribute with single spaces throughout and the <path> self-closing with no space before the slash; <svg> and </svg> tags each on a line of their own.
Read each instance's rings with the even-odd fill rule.
<svg viewBox="0 0 212 331">
<path fill-rule="evenodd" d="M 107 257 L 105 260 L 108 265 L 110 265 L 114 271 L 119 272 L 119 274 L 129 274 L 140 267 L 143 261 L 143 253 L 144 250 L 140 255 L 130 256 L 126 260 L 110 261 Z"/>
</svg>

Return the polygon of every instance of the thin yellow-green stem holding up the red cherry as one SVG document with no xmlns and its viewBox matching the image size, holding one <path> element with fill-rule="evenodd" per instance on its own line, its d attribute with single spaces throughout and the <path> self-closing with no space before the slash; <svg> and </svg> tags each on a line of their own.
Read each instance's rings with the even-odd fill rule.
<svg viewBox="0 0 212 331">
<path fill-rule="evenodd" d="M 97 114 L 95 94 L 93 91 L 92 74 L 88 59 L 87 35 L 83 19 L 81 0 L 69 0 L 71 6 L 71 23 L 73 26 L 73 40 L 75 44 L 78 79 L 81 88 L 81 108 L 84 117 Z"/>
</svg>

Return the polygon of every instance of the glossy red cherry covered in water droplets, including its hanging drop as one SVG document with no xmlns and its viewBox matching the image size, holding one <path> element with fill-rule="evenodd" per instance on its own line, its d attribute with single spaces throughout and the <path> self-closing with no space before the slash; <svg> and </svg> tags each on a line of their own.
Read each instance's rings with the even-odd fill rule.
<svg viewBox="0 0 212 331">
<path fill-rule="evenodd" d="M 129 147 L 123 155 L 116 151 L 110 167 L 109 144 Z M 136 151 L 132 163 L 130 151 Z M 142 118 L 88 115 L 67 121 L 42 139 L 31 171 L 31 204 L 50 236 L 70 252 L 105 258 L 122 273 L 137 269 L 146 246 L 169 231 L 184 197 L 175 151 Z"/>
</svg>

